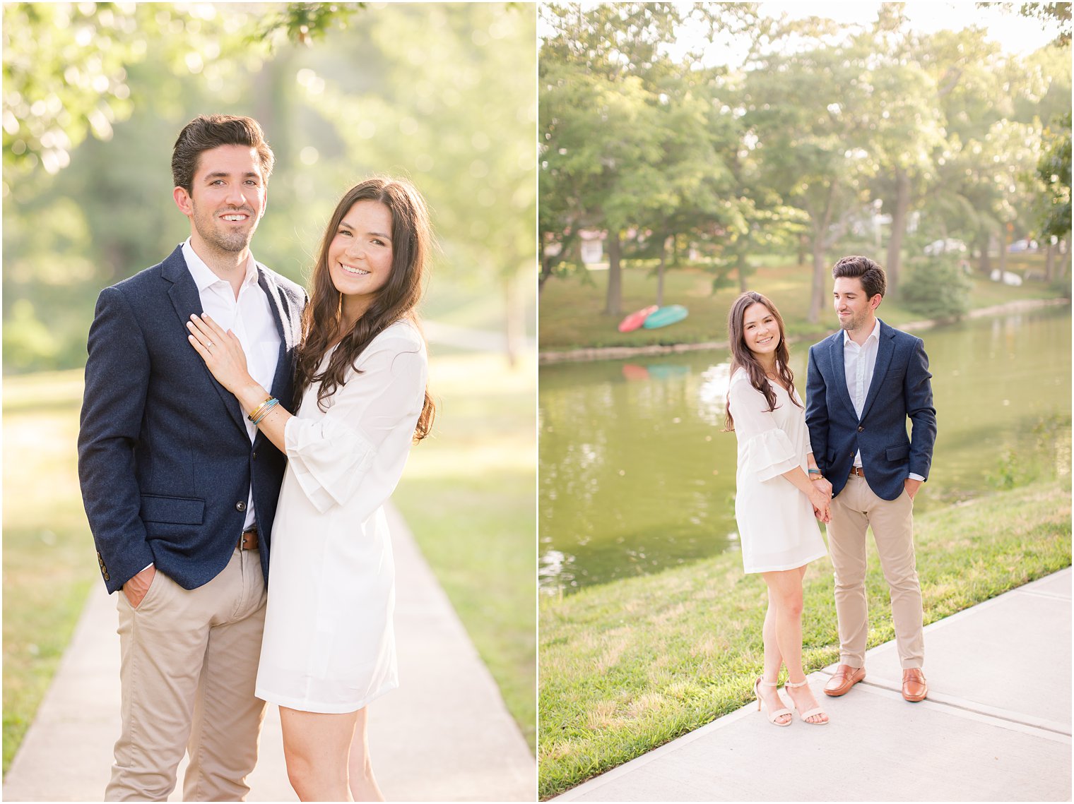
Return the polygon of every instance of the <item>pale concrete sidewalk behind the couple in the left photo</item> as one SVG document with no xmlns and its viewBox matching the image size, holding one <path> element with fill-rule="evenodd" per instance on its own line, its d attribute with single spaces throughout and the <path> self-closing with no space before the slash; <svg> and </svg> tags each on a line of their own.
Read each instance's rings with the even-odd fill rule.
<svg viewBox="0 0 1074 804">
<path fill-rule="evenodd" d="M 369 745 L 389 801 L 534 801 L 536 762 L 402 517 L 396 564 L 400 688 L 369 706 Z M 3 784 L 4 801 L 100 801 L 119 735 L 115 599 L 96 584 Z M 182 800 L 182 778 L 171 801 Z M 249 801 L 297 801 L 279 710 L 268 706 Z"/>
</svg>

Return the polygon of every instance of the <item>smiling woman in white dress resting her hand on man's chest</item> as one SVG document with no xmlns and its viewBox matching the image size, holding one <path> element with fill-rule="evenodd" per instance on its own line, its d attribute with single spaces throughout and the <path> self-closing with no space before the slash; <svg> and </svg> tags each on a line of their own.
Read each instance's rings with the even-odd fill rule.
<svg viewBox="0 0 1074 804">
<path fill-rule="evenodd" d="M 257 696 L 279 704 L 302 801 L 382 801 L 366 705 L 398 685 L 383 503 L 435 412 L 415 308 L 431 245 L 409 184 L 368 179 L 336 206 L 310 278 L 292 415 L 238 339 L 193 317 L 191 345 L 287 454 L 272 535 Z"/>
</svg>

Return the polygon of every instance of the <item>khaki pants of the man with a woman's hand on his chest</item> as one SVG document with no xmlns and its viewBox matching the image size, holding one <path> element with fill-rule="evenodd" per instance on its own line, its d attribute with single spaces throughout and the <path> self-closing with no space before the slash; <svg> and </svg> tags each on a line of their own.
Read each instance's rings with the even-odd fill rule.
<svg viewBox="0 0 1074 804">
<path fill-rule="evenodd" d="M 258 551 L 235 550 L 204 586 L 162 572 L 137 609 L 116 593 L 122 730 L 105 801 L 165 801 L 184 750 L 184 801 L 243 801 L 264 701 L 253 697 L 265 587 Z"/>
</svg>

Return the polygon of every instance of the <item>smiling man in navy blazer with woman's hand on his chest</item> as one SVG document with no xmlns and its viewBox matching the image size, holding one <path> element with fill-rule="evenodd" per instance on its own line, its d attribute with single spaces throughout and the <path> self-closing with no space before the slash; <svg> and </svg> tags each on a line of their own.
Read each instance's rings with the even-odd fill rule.
<svg viewBox="0 0 1074 804">
<path fill-rule="evenodd" d="M 106 801 L 241 801 L 285 456 L 188 342 L 224 322 L 285 404 L 305 293 L 253 260 L 273 154 L 257 121 L 202 116 L 175 143 L 190 238 L 111 288 L 89 331 L 78 477 L 101 574 L 118 591 L 122 729 Z M 223 319 L 219 317 L 223 316 Z"/>
</svg>

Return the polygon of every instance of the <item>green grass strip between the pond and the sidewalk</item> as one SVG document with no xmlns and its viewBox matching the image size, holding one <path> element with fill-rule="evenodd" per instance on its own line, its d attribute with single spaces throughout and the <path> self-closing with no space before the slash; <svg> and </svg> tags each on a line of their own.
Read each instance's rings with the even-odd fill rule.
<svg viewBox="0 0 1074 804">
<path fill-rule="evenodd" d="M 915 522 L 925 622 L 1070 566 L 1071 485 L 1042 482 Z M 869 646 L 894 639 L 870 543 Z M 806 576 L 803 664 L 839 658 L 831 564 Z M 540 626 L 540 798 L 639 757 L 753 698 L 766 591 L 737 553 L 545 598 Z"/>
</svg>

